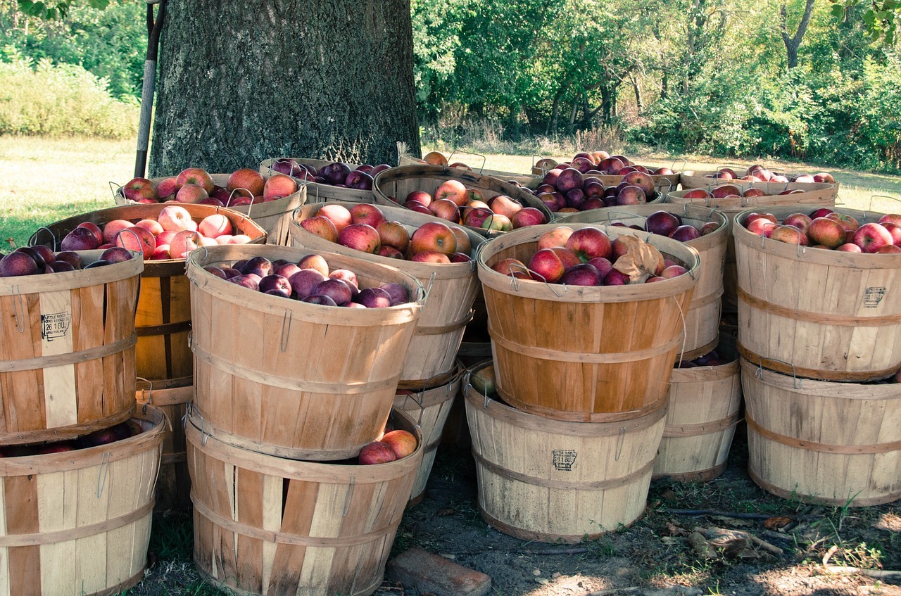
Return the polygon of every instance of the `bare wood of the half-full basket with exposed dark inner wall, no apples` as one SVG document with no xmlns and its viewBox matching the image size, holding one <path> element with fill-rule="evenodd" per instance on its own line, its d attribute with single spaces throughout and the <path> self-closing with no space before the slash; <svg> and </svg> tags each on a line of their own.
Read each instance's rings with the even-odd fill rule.
<svg viewBox="0 0 901 596">
<path fill-rule="evenodd" d="M 467 188 L 478 188 L 485 194 L 486 199 L 490 199 L 496 194 L 506 194 L 523 206 L 538 209 L 544 213 L 547 221 L 550 222 L 554 219 L 553 213 L 548 210 L 541 199 L 532 194 L 532 191 L 504 182 L 499 178 L 482 176 L 460 167 L 428 166 L 424 164 L 392 167 L 378 173 L 375 184 L 372 185 L 372 192 L 376 195 L 376 203 L 399 207 L 400 204 L 398 202 L 404 201 L 406 195 L 414 190 L 435 194 L 438 187 L 448 180 L 458 180 L 463 185 L 466 185 Z M 406 209 L 405 207 L 402 208 Z M 506 233 L 498 230 L 483 230 L 481 228 L 469 229 L 475 230 L 488 238 Z"/>
</svg>

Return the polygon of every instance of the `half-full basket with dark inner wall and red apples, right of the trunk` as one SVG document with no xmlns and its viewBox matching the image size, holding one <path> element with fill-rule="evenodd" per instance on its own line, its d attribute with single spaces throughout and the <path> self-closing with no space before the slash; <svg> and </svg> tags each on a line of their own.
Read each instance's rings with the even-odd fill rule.
<svg viewBox="0 0 901 596">
<path fill-rule="evenodd" d="M 551 212 L 531 191 L 457 167 L 393 167 L 376 176 L 376 203 L 460 223 L 496 237 L 502 232 L 551 221 Z"/>
</svg>

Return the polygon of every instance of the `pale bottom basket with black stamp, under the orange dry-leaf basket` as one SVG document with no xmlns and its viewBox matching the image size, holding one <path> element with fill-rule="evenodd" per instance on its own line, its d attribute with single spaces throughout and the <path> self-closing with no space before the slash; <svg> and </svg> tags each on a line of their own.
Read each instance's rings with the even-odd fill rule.
<svg viewBox="0 0 901 596">
<path fill-rule="evenodd" d="M 666 404 L 620 422 L 548 420 L 488 399 L 468 377 L 466 415 L 478 508 L 493 528 L 577 543 L 642 515 Z"/>
</svg>

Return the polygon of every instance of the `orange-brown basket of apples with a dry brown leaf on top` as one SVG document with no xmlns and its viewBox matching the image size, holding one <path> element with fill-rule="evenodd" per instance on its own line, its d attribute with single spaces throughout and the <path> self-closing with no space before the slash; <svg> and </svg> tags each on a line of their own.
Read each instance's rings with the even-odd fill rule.
<svg viewBox="0 0 901 596">
<path fill-rule="evenodd" d="M 700 258 L 657 234 L 568 227 L 514 230 L 479 250 L 497 391 L 556 420 L 643 416 L 666 402 Z"/>
</svg>

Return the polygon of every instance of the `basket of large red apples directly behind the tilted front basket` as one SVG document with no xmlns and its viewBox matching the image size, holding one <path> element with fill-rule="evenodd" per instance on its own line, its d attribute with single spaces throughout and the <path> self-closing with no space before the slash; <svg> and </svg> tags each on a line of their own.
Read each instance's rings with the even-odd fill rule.
<svg viewBox="0 0 901 596">
<path fill-rule="evenodd" d="M 401 385 L 447 383 L 478 292 L 475 254 L 484 236 L 431 215 L 369 203 L 310 203 L 291 225 L 291 246 L 396 266 L 427 288 Z"/>
</svg>

